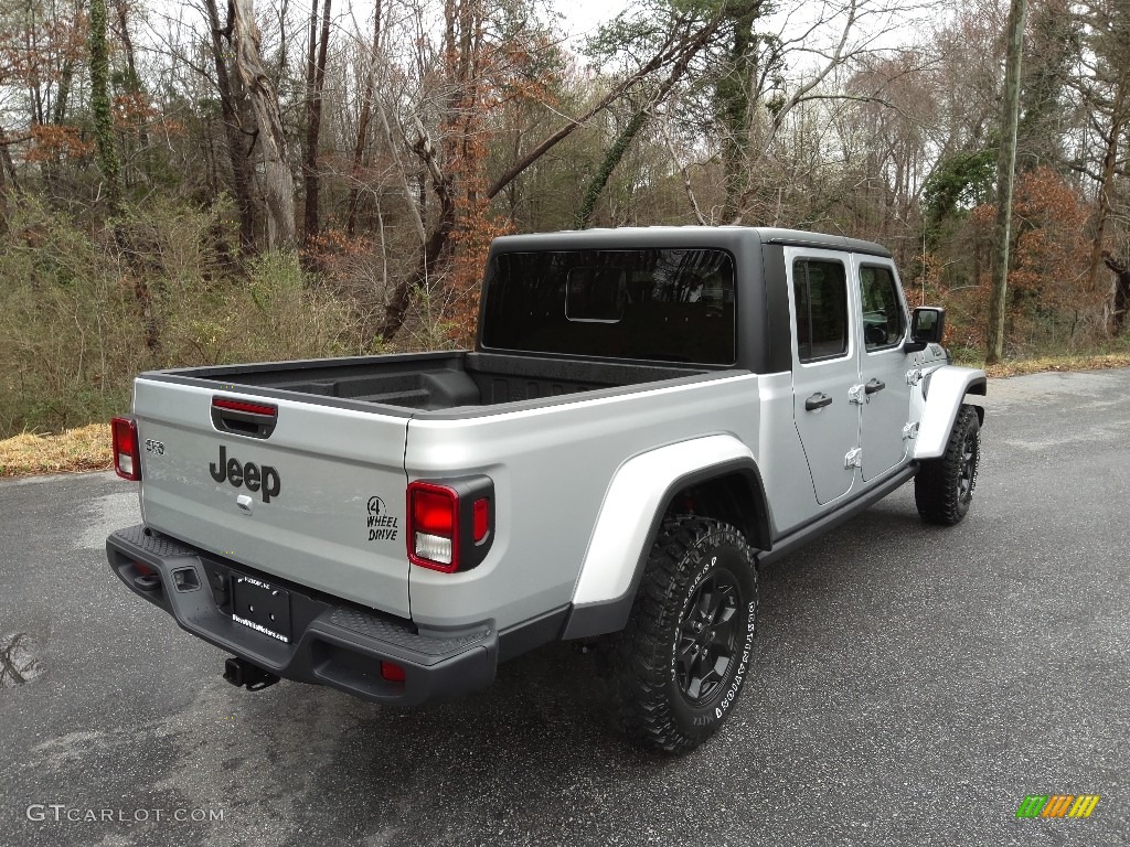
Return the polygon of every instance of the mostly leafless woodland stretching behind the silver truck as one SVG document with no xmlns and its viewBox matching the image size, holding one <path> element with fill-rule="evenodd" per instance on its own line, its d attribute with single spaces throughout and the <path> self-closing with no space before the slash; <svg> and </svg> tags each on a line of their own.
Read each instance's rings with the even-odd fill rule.
<svg viewBox="0 0 1130 847">
<path fill-rule="evenodd" d="M 562 7 L 558 7 L 562 8 Z M 502 233 L 870 238 L 983 360 L 1007 0 L 0 0 L 0 438 L 466 346 Z M 1006 352 L 1130 348 L 1130 3 L 1029 0 Z"/>
</svg>

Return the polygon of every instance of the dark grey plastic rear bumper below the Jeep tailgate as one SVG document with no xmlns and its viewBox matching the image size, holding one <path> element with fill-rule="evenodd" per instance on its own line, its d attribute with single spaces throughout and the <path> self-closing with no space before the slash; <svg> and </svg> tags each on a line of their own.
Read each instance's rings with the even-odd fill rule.
<svg viewBox="0 0 1130 847">
<path fill-rule="evenodd" d="M 420 634 L 410 621 L 304 593 L 141 525 L 111 534 L 106 556 L 127 587 L 172 614 L 182 629 L 285 679 L 400 706 L 457 697 L 494 681 L 498 637 L 486 623 Z M 156 584 L 138 580 L 138 562 L 155 571 Z M 290 643 L 232 620 L 234 576 L 261 578 L 290 593 Z M 384 679 L 381 662 L 400 665 L 405 679 Z"/>
</svg>

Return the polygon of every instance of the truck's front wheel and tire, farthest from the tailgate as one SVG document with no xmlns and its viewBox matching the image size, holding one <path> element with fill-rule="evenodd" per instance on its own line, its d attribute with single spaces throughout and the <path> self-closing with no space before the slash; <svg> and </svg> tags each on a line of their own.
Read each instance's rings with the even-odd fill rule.
<svg viewBox="0 0 1130 847">
<path fill-rule="evenodd" d="M 940 459 L 922 462 L 914 478 L 914 504 L 927 523 L 953 526 L 970 510 L 981 461 L 981 420 L 963 404 Z"/>
</svg>

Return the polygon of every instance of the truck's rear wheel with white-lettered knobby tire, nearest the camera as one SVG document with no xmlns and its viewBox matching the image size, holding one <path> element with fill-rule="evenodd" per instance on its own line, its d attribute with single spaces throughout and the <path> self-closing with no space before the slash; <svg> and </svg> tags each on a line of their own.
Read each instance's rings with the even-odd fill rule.
<svg viewBox="0 0 1130 847">
<path fill-rule="evenodd" d="M 713 735 L 749 675 L 756 622 L 756 559 L 741 533 L 705 517 L 664 521 L 611 654 L 628 737 L 681 753 Z"/>
</svg>

